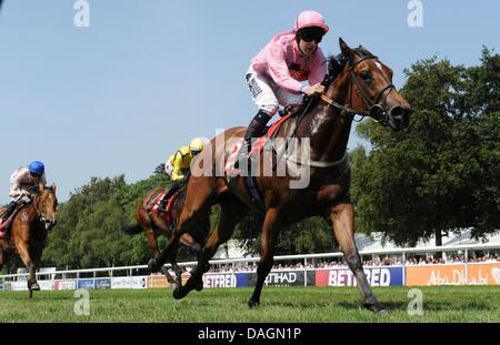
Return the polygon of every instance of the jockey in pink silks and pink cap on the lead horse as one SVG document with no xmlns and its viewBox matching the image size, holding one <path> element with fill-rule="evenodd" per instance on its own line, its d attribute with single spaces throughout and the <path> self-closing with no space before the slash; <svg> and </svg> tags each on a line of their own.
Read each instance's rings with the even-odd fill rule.
<svg viewBox="0 0 500 345">
<path fill-rule="evenodd" d="M 244 133 L 234 168 L 246 161 L 252 138 L 262 135 L 280 105 L 301 103 L 303 94 L 324 91 L 321 81 L 327 73 L 326 59 L 319 43 L 328 31 L 321 13 L 303 11 L 292 30 L 276 34 L 253 57 L 246 79 L 259 112 Z"/>
</svg>

